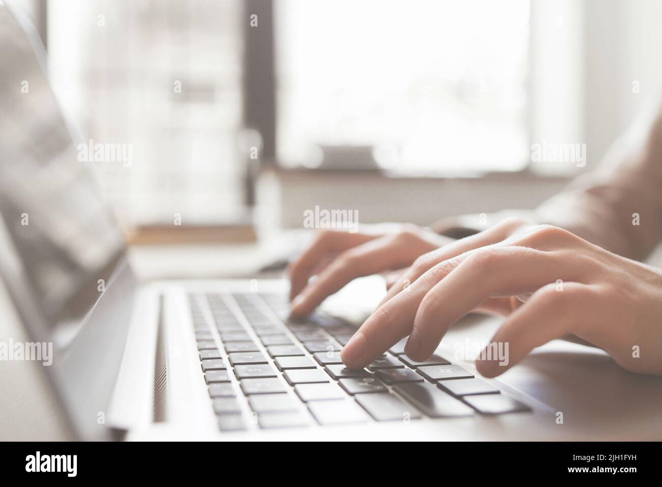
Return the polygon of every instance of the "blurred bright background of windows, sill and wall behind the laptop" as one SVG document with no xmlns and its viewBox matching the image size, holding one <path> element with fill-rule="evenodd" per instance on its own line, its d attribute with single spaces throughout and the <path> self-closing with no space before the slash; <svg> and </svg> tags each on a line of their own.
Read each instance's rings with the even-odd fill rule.
<svg viewBox="0 0 662 487">
<path fill-rule="evenodd" d="M 127 228 L 532 208 L 662 86 L 655 0 L 13 3 L 84 140 L 132 144 L 99 164 Z M 586 144 L 586 167 L 532 161 L 543 142 Z"/>
</svg>

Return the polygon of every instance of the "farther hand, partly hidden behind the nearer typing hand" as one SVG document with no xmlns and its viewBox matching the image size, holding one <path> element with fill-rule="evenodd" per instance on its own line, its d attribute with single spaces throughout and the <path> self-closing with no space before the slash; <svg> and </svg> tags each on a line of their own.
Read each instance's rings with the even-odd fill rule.
<svg viewBox="0 0 662 487">
<path fill-rule="evenodd" d="M 348 233 L 324 230 L 290 266 L 291 316 L 307 316 L 355 278 L 410 266 L 416 258 L 452 242 L 430 229 L 396 225 Z M 311 276 L 318 278 L 308 284 Z"/>
</svg>

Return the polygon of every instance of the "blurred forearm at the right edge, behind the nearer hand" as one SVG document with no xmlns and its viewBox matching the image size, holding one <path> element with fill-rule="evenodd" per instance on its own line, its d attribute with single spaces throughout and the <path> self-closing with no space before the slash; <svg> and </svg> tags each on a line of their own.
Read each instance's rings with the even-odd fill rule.
<svg viewBox="0 0 662 487">
<path fill-rule="evenodd" d="M 535 219 L 616 254 L 645 258 L 662 235 L 662 117 L 622 137 L 595 172 L 545 201 Z"/>
</svg>

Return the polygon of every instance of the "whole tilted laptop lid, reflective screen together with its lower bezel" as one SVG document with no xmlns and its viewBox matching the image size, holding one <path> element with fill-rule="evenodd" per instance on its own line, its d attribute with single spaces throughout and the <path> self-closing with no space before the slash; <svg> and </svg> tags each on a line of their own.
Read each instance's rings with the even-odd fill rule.
<svg viewBox="0 0 662 487">
<path fill-rule="evenodd" d="M 103 439 L 113 430 L 99 415 L 120 369 L 135 282 L 93 163 L 79 160 L 44 76 L 38 35 L 6 5 L 0 3 L 0 270 L 32 341 L 52 346 L 51 366 L 43 368 L 71 431 Z"/>
</svg>

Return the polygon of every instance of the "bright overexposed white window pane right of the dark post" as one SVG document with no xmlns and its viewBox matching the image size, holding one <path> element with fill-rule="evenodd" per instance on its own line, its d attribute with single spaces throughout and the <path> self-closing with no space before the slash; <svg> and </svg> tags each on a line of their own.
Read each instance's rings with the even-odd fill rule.
<svg viewBox="0 0 662 487">
<path fill-rule="evenodd" d="M 530 159 L 528 0 L 277 0 L 277 150 L 369 146 L 407 174 Z"/>
</svg>

